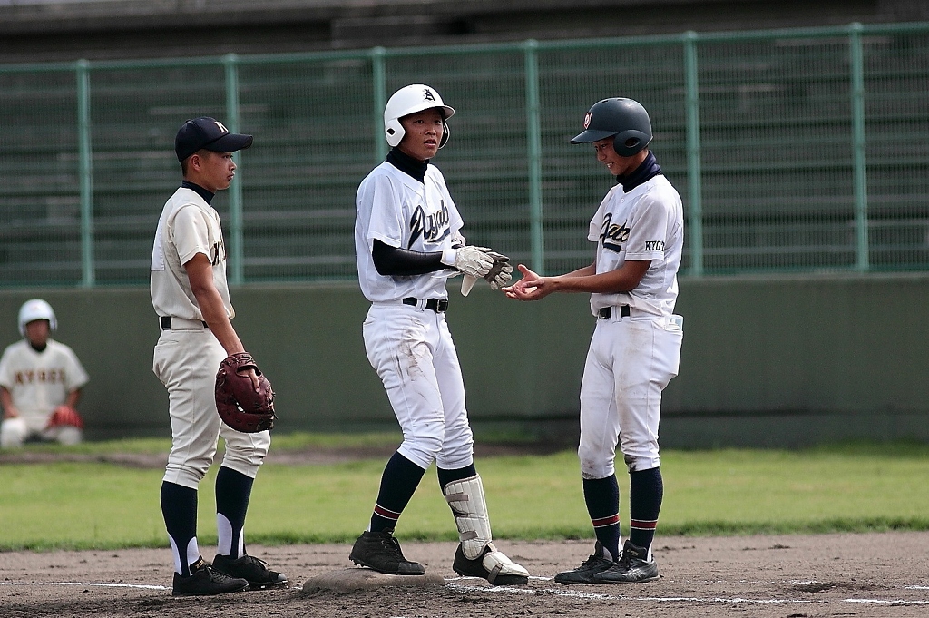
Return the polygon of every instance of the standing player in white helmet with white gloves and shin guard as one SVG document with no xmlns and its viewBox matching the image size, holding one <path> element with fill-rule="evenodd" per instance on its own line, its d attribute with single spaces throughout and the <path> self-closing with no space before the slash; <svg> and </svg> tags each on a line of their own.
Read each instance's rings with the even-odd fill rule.
<svg viewBox="0 0 929 618">
<path fill-rule="evenodd" d="M 494 585 L 526 584 L 529 572 L 492 543 L 461 367 L 445 322 L 449 277 L 464 273 L 499 287 L 512 270 L 508 264 L 494 270 L 490 249 L 465 244 L 445 179 L 429 164 L 448 142 L 446 121 L 453 113 L 428 85 L 400 88 L 384 111 L 393 148 L 358 190 L 355 249 L 361 290 L 372 303 L 365 349 L 403 442 L 386 464 L 371 524 L 349 559 L 379 572 L 425 573 L 403 556 L 393 533 L 426 468 L 436 462 L 461 540 L 452 568 Z"/>
</svg>

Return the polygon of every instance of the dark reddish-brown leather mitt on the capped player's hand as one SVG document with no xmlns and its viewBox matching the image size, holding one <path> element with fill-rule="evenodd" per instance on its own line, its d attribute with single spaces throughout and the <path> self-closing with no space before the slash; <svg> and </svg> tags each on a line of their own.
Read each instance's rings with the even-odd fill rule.
<svg viewBox="0 0 929 618">
<path fill-rule="evenodd" d="M 258 375 L 258 390 L 248 375 Z M 274 428 L 274 391 L 248 352 L 230 354 L 216 372 L 216 412 L 236 431 L 255 433 Z"/>
</svg>

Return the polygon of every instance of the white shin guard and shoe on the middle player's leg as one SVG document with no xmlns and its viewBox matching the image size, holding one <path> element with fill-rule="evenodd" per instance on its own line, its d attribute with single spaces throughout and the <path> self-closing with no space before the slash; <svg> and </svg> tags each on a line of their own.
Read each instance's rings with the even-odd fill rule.
<svg viewBox="0 0 929 618">
<path fill-rule="evenodd" d="M 528 583 L 529 572 L 491 543 L 491 519 L 480 475 L 452 481 L 442 488 L 442 493 L 451 506 L 461 540 L 452 565 L 454 570 L 463 575 L 483 577 L 496 585 Z"/>
</svg>

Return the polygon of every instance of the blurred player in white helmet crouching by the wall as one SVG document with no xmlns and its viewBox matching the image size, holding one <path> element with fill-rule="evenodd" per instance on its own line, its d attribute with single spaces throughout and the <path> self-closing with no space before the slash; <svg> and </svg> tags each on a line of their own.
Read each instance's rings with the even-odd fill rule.
<svg viewBox="0 0 929 618">
<path fill-rule="evenodd" d="M 38 439 L 77 444 L 84 421 L 75 406 L 87 373 L 72 348 L 50 339 L 58 328 L 51 305 L 40 298 L 20 308 L 22 341 L 0 358 L 0 448 L 16 448 Z"/>
</svg>

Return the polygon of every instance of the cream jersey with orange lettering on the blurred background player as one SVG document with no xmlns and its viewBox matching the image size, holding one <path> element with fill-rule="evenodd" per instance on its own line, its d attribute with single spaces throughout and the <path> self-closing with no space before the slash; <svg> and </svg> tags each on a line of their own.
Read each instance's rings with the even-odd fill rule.
<svg viewBox="0 0 929 618">
<path fill-rule="evenodd" d="M 0 386 L 27 418 L 46 419 L 68 394 L 87 383 L 87 372 L 74 350 L 48 339 L 41 352 L 23 339 L 7 347 L 0 358 Z"/>
</svg>

